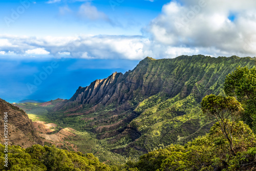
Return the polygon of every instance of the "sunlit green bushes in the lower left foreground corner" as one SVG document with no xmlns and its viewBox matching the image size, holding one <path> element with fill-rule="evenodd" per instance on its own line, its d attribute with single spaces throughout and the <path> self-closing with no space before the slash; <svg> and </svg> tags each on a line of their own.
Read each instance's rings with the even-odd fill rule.
<svg viewBox="0 0 256 171">
<path fill-rule="evenodd" d="M 108 171 L 108 165 L 100 163 L 93 154 L 69 152 L 55 146 L 33 145 L 29 148 L 8 146 L 8 167 L 4 166 L 5 146 L 0 144 L 0 170 L 37 171 Z"/>
</svg>

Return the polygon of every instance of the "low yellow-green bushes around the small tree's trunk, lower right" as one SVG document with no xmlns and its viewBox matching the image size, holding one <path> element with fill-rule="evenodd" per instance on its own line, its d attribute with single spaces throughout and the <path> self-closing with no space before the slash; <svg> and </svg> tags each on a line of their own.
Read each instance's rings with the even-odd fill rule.
<svg viewBox="0 0 256 171">
<path fill-rule="evenodd" d="M 228 124 L 232 124 L 228 122 Z M 170 145 L 164 149 L 147 153 L 132 165 L 143 171 L 163 170 L 252 170 L 256 159 L 256 137 L 250 127 L 239 121 L 234 124 L 233 145 L 236 156 L 229 150 L 229 142 L 222 134 L 219 123 L 211 127 L 210 133 L 183 145 Z M 129 170 L 131 167 L 116 170 Z M 114 170 L 114 169 L 113 169 Z"/>
</svg>

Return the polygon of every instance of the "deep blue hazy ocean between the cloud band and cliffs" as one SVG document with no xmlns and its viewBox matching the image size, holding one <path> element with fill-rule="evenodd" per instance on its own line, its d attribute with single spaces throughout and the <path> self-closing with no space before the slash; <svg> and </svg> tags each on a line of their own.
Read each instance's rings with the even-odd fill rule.
<svg viewBox="0 0 256 171">
<path fill-rule="evenodd" d="M 51 65 L 53 61 L 55 68 Z M 89 86 L 114 72 L 125 73 L 137 64 L 137 60 L 114 59 L 0 59 L 0 97 L 10 103 L 69 99 L 79 86 Z"/>
</svg>

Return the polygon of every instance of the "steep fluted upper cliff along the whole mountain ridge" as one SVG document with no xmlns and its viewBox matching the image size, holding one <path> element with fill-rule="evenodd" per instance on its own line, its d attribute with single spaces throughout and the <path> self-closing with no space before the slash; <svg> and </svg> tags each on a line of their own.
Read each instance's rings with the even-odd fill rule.
<svg viewBox="0 0 256 171">
<path fill-rule="evenodd" d="M 137 97 L 147 97 L 164 93 L 175 97 L 181 93 L 197 96 L 198 102 L 206 94 L 222 90 L 219 87 L 225 76 L 240 66 L 250 66 L 251 58 L 218 57 L 203 55 L 179 56 L 174 59 L 153 59 L 146 57 L 130 72 L 114 73 L 106 79 L 96 80 L 90 86 L 79 87 L 69 102 L 78 104 L 122 104 Z M 215 90 L 209 89 L 215 86 Z M 218 89 L 218 90 L 217 90 Z"/>
</svg>

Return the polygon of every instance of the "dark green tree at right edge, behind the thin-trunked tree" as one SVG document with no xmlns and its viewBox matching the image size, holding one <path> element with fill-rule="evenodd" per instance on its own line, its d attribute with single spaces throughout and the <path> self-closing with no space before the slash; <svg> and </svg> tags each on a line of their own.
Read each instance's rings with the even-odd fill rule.
<svg viewBox="0 0 256 171">
<path fill-rule="evenodd" d="M 256 131 L 256 69 L 238 67 L 228 74 L 224 83 L 227 96 L 236 96 L 245 110 L 243 120 Z"/>
</svg>

